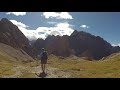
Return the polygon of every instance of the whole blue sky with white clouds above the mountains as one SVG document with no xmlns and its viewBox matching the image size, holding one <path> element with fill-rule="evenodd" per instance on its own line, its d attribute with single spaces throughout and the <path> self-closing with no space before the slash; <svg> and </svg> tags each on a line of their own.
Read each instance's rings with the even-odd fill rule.
<svg viewBox="0 0 120 90">
<path fill-rule="evenodd" d="M 120 46 L 120 12 L 0 12 L 1 18 L 11 20 L 30 40 L 78 30 Z"/>
</svg>

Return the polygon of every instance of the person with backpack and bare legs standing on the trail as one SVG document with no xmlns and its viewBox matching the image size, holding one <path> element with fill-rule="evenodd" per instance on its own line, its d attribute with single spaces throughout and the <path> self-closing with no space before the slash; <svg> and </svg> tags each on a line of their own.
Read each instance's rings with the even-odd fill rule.
<svg viewBox="0 0 120 90">
<path fill-rule="evenodd" d="M 45 51 L 44 48 L 42 48 L 42 52 L 40 53 L 40 57 L 41 57 L 41 68 L 42 68 L 42 73 L 45 73 L 45 65 L 47 64 L 47 52 Z"/>
</svg>

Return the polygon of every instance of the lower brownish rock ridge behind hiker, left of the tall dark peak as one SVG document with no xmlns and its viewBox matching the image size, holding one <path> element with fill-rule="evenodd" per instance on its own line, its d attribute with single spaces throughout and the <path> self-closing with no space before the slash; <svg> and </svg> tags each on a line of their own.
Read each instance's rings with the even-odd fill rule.
<svg viewBox="0 0 120 90">
<path fill-rule="evenodd" d="M 69 56 L 71 54 L 68 36 L 48 36 L 45 40 L 38 39 L 33 45 L 33 52 L 37 56 L 41 52 L 41 48 L 45 48 L 48 54 L 56 56 Z"/>
</svg>

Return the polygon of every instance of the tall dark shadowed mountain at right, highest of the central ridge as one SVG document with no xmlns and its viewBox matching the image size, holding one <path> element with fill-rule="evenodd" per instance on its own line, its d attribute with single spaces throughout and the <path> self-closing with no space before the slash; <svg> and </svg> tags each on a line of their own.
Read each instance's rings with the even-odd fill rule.
<svg viewBox="0 0 120 90">
<path fill-rule="evenodd" d="M 111 54 L 112 46 L 99 36 L 74 31 L 69 40 L 70 46 L 75 50 L 77 56 L 100 59 Z"/>
</svg>

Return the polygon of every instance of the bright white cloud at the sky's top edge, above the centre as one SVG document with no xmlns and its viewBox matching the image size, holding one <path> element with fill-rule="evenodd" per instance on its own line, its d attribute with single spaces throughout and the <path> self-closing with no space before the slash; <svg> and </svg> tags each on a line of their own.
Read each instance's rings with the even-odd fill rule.
<svg viewBox="0 0 120 90">
<path fill-rule="evenodd" d="M 73 17 L 68 12 L 44 12 L 42 16 L 45 18 L 56 18 L 56 19 L 73 19 Z"/>
</svg>

